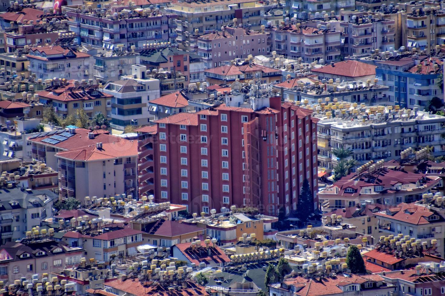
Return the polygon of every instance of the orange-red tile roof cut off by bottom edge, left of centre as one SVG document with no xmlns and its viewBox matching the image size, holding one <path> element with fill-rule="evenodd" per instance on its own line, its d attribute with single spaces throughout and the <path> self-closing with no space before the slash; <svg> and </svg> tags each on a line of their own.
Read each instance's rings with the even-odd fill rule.
<svg viewBox="0 0 445 296">
<path fill-rule="evenodd" d="M 148 283 L 148 282 L 146 282 Z M 184 284 L 186 287 L 183 287 L 181 290 L 178 289 L 169 289 L 170 286 L 168 284 L 158 284 L 153 283 L 149 284 L 141 284 L 138 278 L 131 278 L 125 281 L 122 280 L 114 280 L 112 282 L 106 283 L 106 286 L 117 289 L 119 291 L 125 292 L 123 294 L 130 295 L 152 295 L 152 296 L 209 296 L 210 294 L 206 292 L 206 287 L 203 287 L 199 284 L 195 284 L 190 281 L 185 281 Z M 103 295 L 103 294 L 102 294 Z"/>
</svg>

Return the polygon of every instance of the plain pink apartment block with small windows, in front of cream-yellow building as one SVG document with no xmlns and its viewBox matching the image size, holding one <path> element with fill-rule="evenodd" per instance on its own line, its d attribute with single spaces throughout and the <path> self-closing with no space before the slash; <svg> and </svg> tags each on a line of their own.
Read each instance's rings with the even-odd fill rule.
<svg viewBox="0 0 445 296">
<path fill-rule="evenodd" d="M 220 67 L 227 60 L 246 59 L 270 52 L 270 33 L 264 32 L 264 26 L 261 31 L 239 28 L 235 24 L 233 27 L 221 28 L 222 31 L 213 30 L 207 34 L 195 34 L 190 37 L 193 49 L 202 57 L 206 69 Z"/>
</svg>

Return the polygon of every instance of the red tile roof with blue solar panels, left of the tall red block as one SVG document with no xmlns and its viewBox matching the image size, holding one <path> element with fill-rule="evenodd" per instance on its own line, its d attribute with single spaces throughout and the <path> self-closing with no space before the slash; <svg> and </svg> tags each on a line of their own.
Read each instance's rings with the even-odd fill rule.
<svg viewBox="0 0 445 296">
<path fill-rule="evenodd" d="M 96 143 L 99 143 L 99 142 L 101 142 L 101 143 L 119 142 L 123 139 L 123 138 L 116 137 L 111 134 L 105 134 L 105 133 L 95 134 L 94 138 L 90 139 L 88 137 L 88 133 L 90 133 L 90 132 L 92 132 L 92 131 L 87 130 L 87 129 L 78 128 L 78 129 L 76 129 L 76 134 L 74 134 L 74 136 L 66 139 L 65 141 L 58 142 L 56 144 L 49 144 L 49 143 L 42 142 L 42 140 L 52 136 L 52 135 L 49 135 L 47 132 L 40 133 L 36 136 L 32 136 L 32 137 L 28 138 L 28 140 L 31 142 L 36 142 L 36 143 L 43 144 L 43 145 L 53 146 L 53 147 L 57 147 L 57 148 L 65 149 L 65 150 L 71 150 L 71 149 L 86 147 L 89 145 L 96 145 Z M 123 139 L 123 140 L 128 141 L 126 139 Z"/>
</svg>

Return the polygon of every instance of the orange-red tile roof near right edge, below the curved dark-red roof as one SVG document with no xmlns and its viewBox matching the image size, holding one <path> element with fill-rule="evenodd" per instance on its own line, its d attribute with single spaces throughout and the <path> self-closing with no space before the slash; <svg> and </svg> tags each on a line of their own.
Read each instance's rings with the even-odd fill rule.
<svg viewBox="0 0 445 296">
<path fill-rule="evenodd" d="M 374 215 L 397 221 L 404 221 L 414 225 L 430 224 L 427 218 L 434 215 L 434 212 L 430 211 L 426 207 L 416 205 L 414 203 L 401 203 L 397 207 L 389 208 L 388 211 L 390 211 L 392 215 L 388 215 L 383 211 L 374 213 Z"/>
</svg>

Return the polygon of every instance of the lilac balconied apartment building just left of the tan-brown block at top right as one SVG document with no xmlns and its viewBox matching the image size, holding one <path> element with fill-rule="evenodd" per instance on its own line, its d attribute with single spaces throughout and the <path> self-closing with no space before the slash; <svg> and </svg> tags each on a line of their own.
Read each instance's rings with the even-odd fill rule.
<svg viewBox="0 0 445 296">
<path fill-rule="evenodd" d="M 380 19 L 368 16 L 364 12 L 342 12 L 340 30 L 345 36 L 343 55 L 360 55 L 380 49 L 388 51 L 395 48 L 395 20 Z"/>
</svg>

